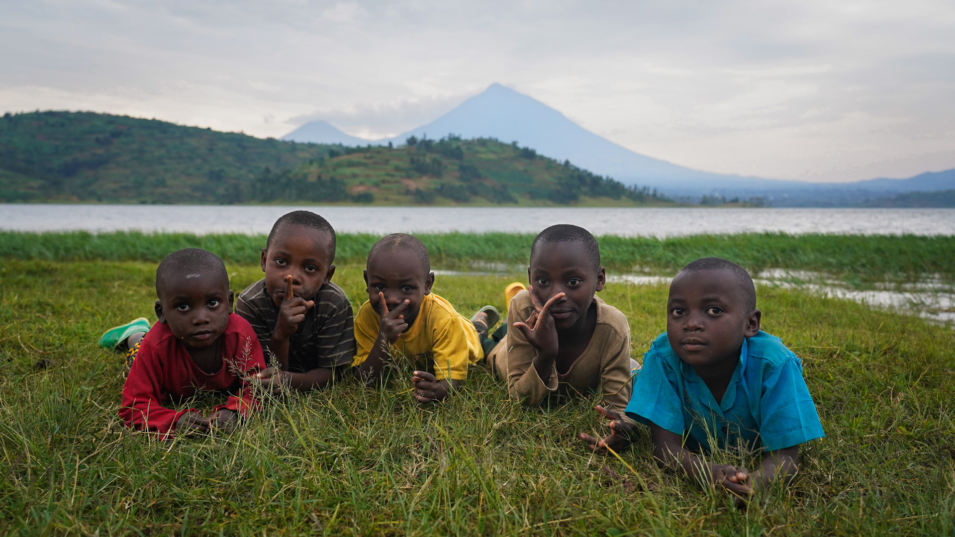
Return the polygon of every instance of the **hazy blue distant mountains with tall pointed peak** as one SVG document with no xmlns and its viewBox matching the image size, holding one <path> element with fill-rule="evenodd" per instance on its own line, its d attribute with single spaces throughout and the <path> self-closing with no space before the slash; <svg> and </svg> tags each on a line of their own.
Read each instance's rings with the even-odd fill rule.
<svg viewBox="0 0 955 537">
<path fill-rule="evenodd" d="M 312 137 L 311 132 L 319 133 Z M 283 140 L 341 143 L 343 145 L 400 145 L 409 137 L 437 139 L 455 134 L 463 139 L 517 140 L 539 154 L 571 163 L 625 184 L 656 187 L 687 199 L 719 194 L 727 197 L 762 196 L 776 206 L 854 205 L 887 194 L 955 188 L 955 170 L 928 172 L 906 180 L 874 179 L 855 183 L 808 183 L 742 177 L 695 170 L 653 159 L 587 131 L 533 97 L 492 84 L 475 97 L 434 121 L 391 139 L 362 140 L 326 121 L 313 121 Z"/>
</svg>

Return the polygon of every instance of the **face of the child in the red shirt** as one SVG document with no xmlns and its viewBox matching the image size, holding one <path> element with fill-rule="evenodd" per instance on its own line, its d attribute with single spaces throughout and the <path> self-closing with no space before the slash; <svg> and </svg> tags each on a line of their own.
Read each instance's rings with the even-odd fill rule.
<svg viewBox="0 0 955 537">
<path fill-rule="evenodd" d="M 225 332 L 232 311 L 232 290 L 223 275 L 206 270 L 166 277 L 156 316 L 159 322 L 193 349 L 213 345 Z"/>
</svg>

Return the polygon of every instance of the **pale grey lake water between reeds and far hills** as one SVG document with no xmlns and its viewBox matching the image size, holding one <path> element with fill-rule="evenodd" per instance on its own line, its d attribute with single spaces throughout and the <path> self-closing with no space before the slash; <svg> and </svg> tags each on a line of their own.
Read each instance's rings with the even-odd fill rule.
<svg viewBox="0 0 955 537">
<path fill-rule="evenodd" d="M 595 235 L 656 236 L 784 231 L 953 235 L 955 208 L 602 208 L 0 204 L 0 229 L 267 233 L 295 209 L 315 211 L 339 232 L 511 231 L 553 224 Z"/>
</svg>

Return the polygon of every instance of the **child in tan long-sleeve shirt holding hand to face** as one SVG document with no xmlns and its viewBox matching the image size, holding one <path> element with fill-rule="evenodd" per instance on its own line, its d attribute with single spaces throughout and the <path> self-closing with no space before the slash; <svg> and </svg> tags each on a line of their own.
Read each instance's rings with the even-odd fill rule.
<svg viewBox="0 0 955 537">
<path fill-rule="evenodd" d="M 630 330 L 626 316 L 594 296 L 604 289 L 600 247 L 579 226 L 550 226 L 531 247 L 528 290 L 511 300 L 507 334 L 487 361 L 526 405 L 552 396 L 597 392 L 597 411 L 610 419 L 605 439 L 581 434 L 604 453 L 630 444 L 633 423 L 622 414 L 630 398 Z"/>
</svg>

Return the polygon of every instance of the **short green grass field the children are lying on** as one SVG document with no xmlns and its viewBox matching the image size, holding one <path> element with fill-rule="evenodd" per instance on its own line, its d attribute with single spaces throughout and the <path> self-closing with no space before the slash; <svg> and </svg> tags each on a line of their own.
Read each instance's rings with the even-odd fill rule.
<svg viewBox="0 0 955 537">
<path fill-rule="evenodd" d="M 202 238 L 216 240 L 224 241 Z M 771 240 L 796 241 L 725 242 Z M 94 259 L 96 250 L 69 251 Z M 827 438 L 803 447 L 791 488 L 769 491 L 742 512 L 721 494 L 659 472 L 646 430 L 621 460 L 591 455 L 576 435 L 605 431 L 593 398 L 523 409 L 483 368 L 432 407 L 400 395 L 403 377 L 387 389 L 347 379 L 274 400 L 231 436 L 148 440 L 118 422 L 120 359 L 95 342 L 119 322 L 152 318 L 155 263 L 38 257 L 0 267 L 3 534 L 955 532 L 955 333 L 916 318 L 759 289 L 764 328 L 802 357 Z M 341 265 L 335 281 L 357 306 L 361 269 Z M 237 291 L 261 275 L 247 261 L 229 262 L 228 270 Z M 488 301 L 502 307 L 511 279 L 442 276 L 435 291 L 460 311 Z M 601 296 L 626 313 L 639 358 L 662 330 L 666 288 L 613 284 Z M 194 404 L 208 408 L 214 398 Z M 608 477 L 604 465 L 636 489 Z"/>
</svg>

